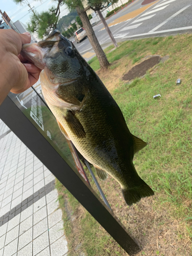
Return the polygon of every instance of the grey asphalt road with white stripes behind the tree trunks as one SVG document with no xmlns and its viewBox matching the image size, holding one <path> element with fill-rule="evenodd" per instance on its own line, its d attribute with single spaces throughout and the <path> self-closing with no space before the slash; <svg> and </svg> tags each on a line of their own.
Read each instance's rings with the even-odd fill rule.
<svg viewBox="0 0 192 256">
<path fill-rule="evenodd" d="M 142 3 L 143 0 L 136 0 L 106 20 L 117 42 L 192 32 L 191 0 L 159 0 L 148 5 Z M 103 48 L 112 44 L 102 23 L 93 29 Z M 80 44 L 75 42 L 75 46 L 82 55 L 87 53 L 83 56 L 87 60 L 94 56 L 88 38 Z"/>
</svg>

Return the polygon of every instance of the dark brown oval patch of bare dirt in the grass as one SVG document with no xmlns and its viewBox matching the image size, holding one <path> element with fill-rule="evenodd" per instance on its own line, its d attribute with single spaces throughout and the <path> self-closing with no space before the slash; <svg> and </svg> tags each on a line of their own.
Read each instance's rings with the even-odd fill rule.
<svg viewBox="0 0 192 256">
<path fill-rule="evenodd" d="M 140 64 L 133 67 L 129 72 L 127 72 L 123 77 L 122 80 L 131 81 L 136 77 L 141 77 L 146 74 L 146 71 L 153 68 L 157 65 L 161 60 L 160 56 L 153 56 L 141 62 Z"/>
</svg>

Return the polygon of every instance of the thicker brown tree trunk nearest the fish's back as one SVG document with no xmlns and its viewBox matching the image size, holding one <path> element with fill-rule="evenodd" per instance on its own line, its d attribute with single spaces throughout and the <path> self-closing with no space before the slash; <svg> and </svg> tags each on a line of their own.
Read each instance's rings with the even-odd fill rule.
<svg viewBox="0 0 192 256">
<path fill-rule="evenodd" d="M 109 63 L 108 59 L 106 58 L 106 55 L 103 52 L 103 49 L 99 45 L 99 42 L 98 42 L 95 32 L 91 26 L 91 23 L 89 21 L 87 13 L 84 10 L 82 10 L 80 7 L 76 7 L 76 10 L 77 10 L 77 14 L 79 15 L 79 17 L 81 19 L 83 28 L 86 30 L 90 44 L 92 45 L 93 50 L 95 51 L 95 53 L 97 55 L 101 71 L 108 69 L 110 63 Z"/>
</svg>

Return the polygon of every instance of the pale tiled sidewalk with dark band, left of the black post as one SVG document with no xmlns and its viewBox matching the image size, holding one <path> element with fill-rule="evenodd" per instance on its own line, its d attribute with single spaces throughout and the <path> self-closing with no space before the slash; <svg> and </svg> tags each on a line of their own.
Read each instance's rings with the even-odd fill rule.
<svg viewBox="0 0 192 256">
<path fill-rule="evenodd" d="M 55 177 L 0 119 L 0 256 L 63 256 Z"/>
</svg>

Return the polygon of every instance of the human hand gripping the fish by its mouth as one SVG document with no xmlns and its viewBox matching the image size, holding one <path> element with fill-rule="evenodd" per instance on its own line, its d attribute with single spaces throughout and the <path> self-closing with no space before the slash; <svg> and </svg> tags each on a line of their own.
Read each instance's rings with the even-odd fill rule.
<svg viewBox="0 0 192 256">
<path fill-rule="evenodd" d="M 11 29 L 0 30 L 0 104 L 9 91 L 21 93 L 37 82 L 40 69 L 20 55 L 23 44 L 29 44 L 28 32 L 18 34 Z M 2 99 L 1 95 L 5 97 Z"/>
</svg>

